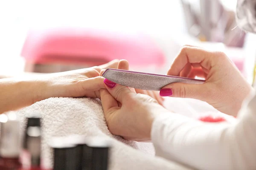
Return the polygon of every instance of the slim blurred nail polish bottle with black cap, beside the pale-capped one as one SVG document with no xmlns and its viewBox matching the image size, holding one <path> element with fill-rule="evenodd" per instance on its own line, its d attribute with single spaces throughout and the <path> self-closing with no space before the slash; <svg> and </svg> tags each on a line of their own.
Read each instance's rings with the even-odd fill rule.
<svg viewBox="0 0 256 170">
<path fill-rule="evenodd" d="M 27 117 L 21 162 L 23 170 L 42 170 L 41 118 L 39 114 Z"/>
</svg>

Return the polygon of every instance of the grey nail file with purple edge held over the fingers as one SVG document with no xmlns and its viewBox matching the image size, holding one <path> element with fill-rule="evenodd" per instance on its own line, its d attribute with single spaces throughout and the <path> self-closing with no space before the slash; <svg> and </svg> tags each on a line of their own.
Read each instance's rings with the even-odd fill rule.
<svg viewBox="0 0 256 170">
<path fill-rule="evenodd" d="M 102 77 L 119 85 L 152 91 L 160 91 L 164 86 L 174 82 L 189 84 L 203 84 L 205 82 L 204 80 L 189 79 L 185 77 L 141 73 L 113 68 L 106 69 Z"/>
</svg>

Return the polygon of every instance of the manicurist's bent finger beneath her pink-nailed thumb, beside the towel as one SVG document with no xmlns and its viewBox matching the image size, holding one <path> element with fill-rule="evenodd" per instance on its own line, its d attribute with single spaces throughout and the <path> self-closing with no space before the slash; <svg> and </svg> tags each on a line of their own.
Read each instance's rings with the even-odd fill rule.
<svg viewBox="0 0 256 170">
<path fill-rule="evenodd" d="M 116 109 L 119 109 L 116 99 L 108 92 L 107 89 L 100 89 L 100 98 L 105 118 L 108 119 L 109 115 Z"/>
</svg>

